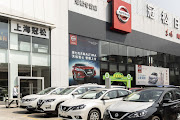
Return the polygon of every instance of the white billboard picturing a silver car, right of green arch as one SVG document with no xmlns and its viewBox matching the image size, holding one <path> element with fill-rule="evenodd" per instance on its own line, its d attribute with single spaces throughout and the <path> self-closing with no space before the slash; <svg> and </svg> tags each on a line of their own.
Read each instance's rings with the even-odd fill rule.
<svg viewBox="0 0 180 120">
<path fill-rule="evenodd" d="M 136 85 L 169 85 L 169 68 L 136 65 Z"/>
</svg>

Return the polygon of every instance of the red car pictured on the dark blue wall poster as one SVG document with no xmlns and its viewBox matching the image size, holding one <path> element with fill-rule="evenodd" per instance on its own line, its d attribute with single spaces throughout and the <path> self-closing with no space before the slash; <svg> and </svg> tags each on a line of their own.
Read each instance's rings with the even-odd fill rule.
<svg viewBox="0 0 180 120">
<path fill-rule="evenodd" d="M 96 75 L 94 67 L 87 66 L 85 64 L 75 64 L 72 70 L 74 80 L 84 80 L 87 78 L 92 79 Z"/>
</svg>

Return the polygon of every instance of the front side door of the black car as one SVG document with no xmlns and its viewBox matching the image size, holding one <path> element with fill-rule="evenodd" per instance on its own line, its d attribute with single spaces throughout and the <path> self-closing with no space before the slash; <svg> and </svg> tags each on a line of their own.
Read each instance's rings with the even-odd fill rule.
<svg viewBox="0 0 180 120">
<path fill-rule="evenodd" d="M 169 100 L 169 101 L 168 101 Z M 177 118 L 177 102 L 173 91 L 165 93 L 162 101 L 164 120 L 176 120 Z"/>
</svg>

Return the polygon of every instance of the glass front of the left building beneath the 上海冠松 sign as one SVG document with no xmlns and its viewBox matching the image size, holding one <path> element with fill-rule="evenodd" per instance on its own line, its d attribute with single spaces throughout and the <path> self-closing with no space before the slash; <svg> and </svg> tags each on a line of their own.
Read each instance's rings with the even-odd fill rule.
<svg viewBox="0 0 180 120">
<path fill-rule="evenodd" d="M 11 32 L 10 22 L 0 17 L 0 101 L 8 94 L 8 86 L 17 84 L 17 77 L 43 77 L 44 87 L 51 86 L 50 39 Z M 41 89 L 41 82 L 23 79 L 20 89 L 34 93 Z"/>
</svg>

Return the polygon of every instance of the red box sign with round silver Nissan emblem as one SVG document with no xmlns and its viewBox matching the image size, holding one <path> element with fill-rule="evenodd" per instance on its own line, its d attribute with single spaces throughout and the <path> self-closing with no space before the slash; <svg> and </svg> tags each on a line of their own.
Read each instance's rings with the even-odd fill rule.
<svg viewBox="0 0 180 120">
<path fill-rule="evenodd" d="M 109 0 L 112 3 L 111 29 L 122 33 L 131 33 L 131 4 L 122 0 Z"/>
</svg>

